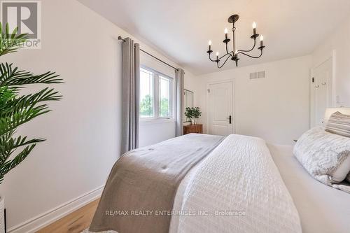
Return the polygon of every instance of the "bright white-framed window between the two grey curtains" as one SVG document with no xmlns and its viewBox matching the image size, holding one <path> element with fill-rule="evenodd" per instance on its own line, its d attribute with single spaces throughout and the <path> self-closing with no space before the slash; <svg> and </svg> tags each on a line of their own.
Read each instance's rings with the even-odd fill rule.
<svg viewBox="0 0 350 233">
<path fill-rule="evenodd" d="M 172 119 L 174 78 L 148 68 L 140 70 L 141 120 Z"/>
</svg>

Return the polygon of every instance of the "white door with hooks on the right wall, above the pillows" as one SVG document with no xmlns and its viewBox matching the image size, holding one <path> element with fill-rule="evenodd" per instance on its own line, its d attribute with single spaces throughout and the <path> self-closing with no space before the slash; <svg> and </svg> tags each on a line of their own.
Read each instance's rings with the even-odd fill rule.
<svg viewBox="0 0 350 233">
<path fill-rule="evenodd" d="M 311 127 L 322 125 L 325 108 L 332 107 L 332 59 L 314 69 L 311 80 Z"/>
</svg>

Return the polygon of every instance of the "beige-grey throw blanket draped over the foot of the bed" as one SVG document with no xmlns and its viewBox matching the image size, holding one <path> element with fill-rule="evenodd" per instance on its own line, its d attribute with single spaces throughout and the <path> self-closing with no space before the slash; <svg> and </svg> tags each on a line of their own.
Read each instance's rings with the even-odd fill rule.
<svg viewBox="0 0 350 233">
<path fill-rule="evenodd" d="M 123 155 L 109 175 L 90 231 L 168 232 L 179 183 L 223 139 L 187 134 Z"/>
</svg>

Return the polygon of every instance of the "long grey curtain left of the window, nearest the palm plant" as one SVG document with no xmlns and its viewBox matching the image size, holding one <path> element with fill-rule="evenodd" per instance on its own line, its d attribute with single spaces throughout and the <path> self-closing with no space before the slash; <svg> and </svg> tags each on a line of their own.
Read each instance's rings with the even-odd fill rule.
<svg viewBox="0 0 350 233">
<path fill-rule="evenodd" d="M 131 38 L 122 43 L 123 117 L 122 153 L 139 147 L 140 48 Z"/>
</svg>

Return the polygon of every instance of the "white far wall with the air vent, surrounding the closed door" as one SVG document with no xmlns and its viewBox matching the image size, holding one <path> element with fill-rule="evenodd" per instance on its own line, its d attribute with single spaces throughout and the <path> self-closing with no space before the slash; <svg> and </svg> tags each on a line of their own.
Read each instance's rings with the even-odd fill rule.
<svg viewBox="0 0 350 233">
<path fill-rule="evenodd" d="M 235 132 L 292 144 L 309 129 L 310 66 L 311 56 L 305 56 L 198 76 L 200 122 L 205 129 L 207 83 L 234 79 Z M 266 78 L 249 80 L 255 71 L 266 71 Z"/>
</svg>

